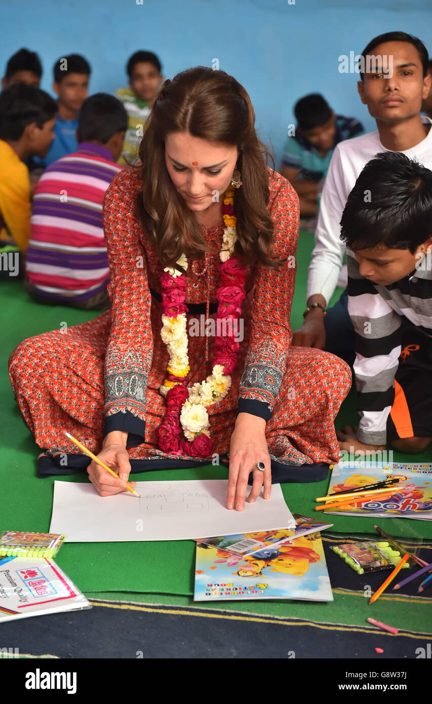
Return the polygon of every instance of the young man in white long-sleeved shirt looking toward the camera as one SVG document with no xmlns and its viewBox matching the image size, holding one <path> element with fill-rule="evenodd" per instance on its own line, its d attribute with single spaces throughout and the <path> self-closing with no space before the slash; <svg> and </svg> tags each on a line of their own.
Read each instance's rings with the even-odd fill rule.
<svg viewBox="0 0 432 704">
<path fill-rule="evenodd" d="M 372 39 L 364 49 L 366 66 L 368 56 L 381 57 L 383 73 L 361 73 L 362 80 L 357 85 L 362 103 L 376 119 L 378 131 L 347 139 L 333 153 L 309 266 L 305 322 L 293 333 L 294 345 L 325 349 L 351 364 L 355 342 L 346 290 L 324 317 L 342 268 L 345 246 L 340 239 L 340 222 L 348 195 L 364 165 L 379 152 L 401 151 L 432 170 L 432 120 L 420 115 L 422 101 L 431 88 L 426 47 L 405 32 L 387 32 Z M 372 67 L 374 63 L 369 60 L 369 68 Z M 384 67 L 392 70 L 385 73 Z M 373 199 L 374 194 L 365 192 L 364 198 Z"/>
</svg>

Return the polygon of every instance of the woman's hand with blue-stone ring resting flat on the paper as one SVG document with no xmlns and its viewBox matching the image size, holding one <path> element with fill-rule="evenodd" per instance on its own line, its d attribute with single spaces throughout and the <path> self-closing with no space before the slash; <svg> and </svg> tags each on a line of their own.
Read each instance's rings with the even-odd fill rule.
<svg viewBox="0 0 432 704">
<path fill-rule="evenodd" d="M 264 463 L 265 470 L 253 472 L 253 485 L 248 502 L 253 503 L 260 496 L 263 481 L 264 498 L 270 498 L 272 472 L 265 425 L 264 418 L 250 413 L 239 413 L 237 416 L 229 448 L 227 508 L 243 511 L 249 474 L 258 462 Z"/>
</svg>

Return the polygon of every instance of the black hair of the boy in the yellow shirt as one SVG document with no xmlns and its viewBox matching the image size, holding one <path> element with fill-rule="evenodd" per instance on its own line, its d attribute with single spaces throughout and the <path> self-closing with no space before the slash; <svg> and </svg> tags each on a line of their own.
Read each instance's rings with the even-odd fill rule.
<svg viewBox="0 0 432 704">
<path fill-rule="evenodd" d="M 0 139 L 15 142 L 32 122 L 42 130 L 57 111 L 51 95 L 36 86 L 16 83 L 5 88 L 0 93 Z"/>
</svg>

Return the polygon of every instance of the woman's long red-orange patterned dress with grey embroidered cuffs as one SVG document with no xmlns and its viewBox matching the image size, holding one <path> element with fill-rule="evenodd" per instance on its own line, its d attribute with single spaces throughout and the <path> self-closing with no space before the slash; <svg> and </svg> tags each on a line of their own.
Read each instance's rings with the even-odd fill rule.
<svg viewBox="0 0 432 704">
<path fill-rule="evenodd" d="M 67 429 L 94 453 L 113 429 L 127 430 L 131 460 L 172 458 L 158 449 L 156 430 L 165 399 L 158 389 L 165 379 L 167 348 L 160 339 L 163 271 L 154 247 L 136 220 L 139 174 L 120 172 L 106 192 L 104 227 L 112 308 L 98 318 L 24 340 L 10 359 L 15 398 L 37 444 L 49 455 L 82 455 L 64 436 Z M 229 451 L 239 410 L 267 420 L 272 460 L 282 465 L 330 463 L 339 456 L 333 420 L 350 387 L 350 370 L 342 360 L 311 348 L 291 348 L 289 318 L 296 267 L 298 198 L 277 172 L 269 170 L 269 212 L 274 221 L 279 271 L 259 266 L 246 280 L 244 339 L 231 375 L 229 394 L 208 408 L 214 451 Z M 218 251 L 224 226 L 205 229 Z M 186 275 L 188 329 L 192 318 L 210 306 L 216 318 L 218 253 L 190 261 Z M 189 335 L 189 383 L 212 370 L 213 338 Z M 57 462 L 58 465 L 58 462 Z M 68 465 L 73 466 L 68 461 Z M 58 465 L 59 466 L 59 465 Z M 148 466 L 148 463 L 146 464 Z M 144 465 L 132 461 L 136 470 Z M 58 472 L 60 473 L 60 472 Z"/>
</svg>

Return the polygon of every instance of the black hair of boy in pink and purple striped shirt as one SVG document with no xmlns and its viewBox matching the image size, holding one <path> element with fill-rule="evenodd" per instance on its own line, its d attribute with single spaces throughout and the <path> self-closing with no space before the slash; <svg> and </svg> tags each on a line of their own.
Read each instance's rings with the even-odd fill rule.
<svg viewBox="0 0 432 704">
<path fill-rule="evenodd" d="M 120 100 L 108 93 L 95 93 L 84 100 L 78 118 L 80 142 L 106 144 L 116 132 L 126 132 L 127 112 Z"/>
</svg>

